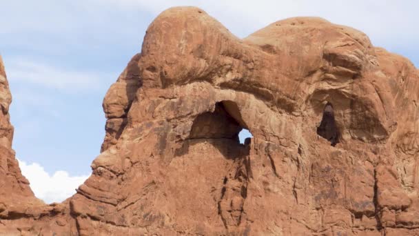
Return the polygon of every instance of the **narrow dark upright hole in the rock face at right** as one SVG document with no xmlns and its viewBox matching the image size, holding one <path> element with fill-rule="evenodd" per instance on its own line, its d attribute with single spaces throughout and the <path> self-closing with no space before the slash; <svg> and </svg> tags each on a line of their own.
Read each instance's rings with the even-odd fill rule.
<svg viewBox="0 0 419 236">
<path fill-rule="evenodd" d="M 323 108 L 323 117 L 320 126 L 317 127 L 317 134 L 330 141 L 331 146 L 335 146 L 339 142 L 339 130 L 336 126 L 334 107 L 329 101 Z"/>
</svg>

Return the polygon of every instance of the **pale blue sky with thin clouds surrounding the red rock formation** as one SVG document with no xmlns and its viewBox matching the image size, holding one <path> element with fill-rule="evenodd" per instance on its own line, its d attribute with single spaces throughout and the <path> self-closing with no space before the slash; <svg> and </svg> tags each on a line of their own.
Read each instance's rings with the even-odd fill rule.
<svg viewBox="0 0 419 236">
<path fill-rule="evenodd" d="M 419 65 L 417 1 L 2 1 L 0 53 L 13 96 L 13 148 L 31 183 L 54 181 L 64 171 L 76 178 L 68 184 L 74 189 L 90 175 L 104 137 L 105 92 L 141 51 L 147 26 L 170 6 L 199 6 L 238 37 L 287 17 L 323 17 Z M 35 179 L 39 172 L 49 179 Z M 43 185 L 36 195 L 54 194 Z"/>
</svg>

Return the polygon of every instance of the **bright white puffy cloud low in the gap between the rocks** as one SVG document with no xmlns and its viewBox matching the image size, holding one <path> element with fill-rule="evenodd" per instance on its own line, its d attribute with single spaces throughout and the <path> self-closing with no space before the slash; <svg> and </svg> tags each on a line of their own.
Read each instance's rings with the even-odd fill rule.
<svg viewBox="0 0 419 236">
<path fill-rule="evenodd" d="M 35 196 L 47 204 L 61 202 L 71 197 L 76 193 L 75 189 L 89 177 L 88 175 L 70 176 L 63 170 L 50 175 L 37 163 L 26 164 L 25 161 L 19 159 L 18 161 L 22 174 L 29 180 Z"/>
</svg>

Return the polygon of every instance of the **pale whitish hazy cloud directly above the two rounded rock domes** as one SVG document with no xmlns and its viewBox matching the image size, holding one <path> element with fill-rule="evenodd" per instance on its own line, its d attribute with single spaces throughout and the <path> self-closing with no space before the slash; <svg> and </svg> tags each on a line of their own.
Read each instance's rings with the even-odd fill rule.
<svg viewBox="0 0 419 236">
<path fill-rule="evenodd" d="M 238 36 L 289 17 L 316 16 L 364 31 L 379 46 L 416 43 L 419 31 L 418 1 L 191 1 L 105 0 L 117 6 L 147 10 L 153 14 L 172 6 L 198 6 L 212 14 Z M 247 27 L 248 30 L 241 30 Z"/>
</svg>

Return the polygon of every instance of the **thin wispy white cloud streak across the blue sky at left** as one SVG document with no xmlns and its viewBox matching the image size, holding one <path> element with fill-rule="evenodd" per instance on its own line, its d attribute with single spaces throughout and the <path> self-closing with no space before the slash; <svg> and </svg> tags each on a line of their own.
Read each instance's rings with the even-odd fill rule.
<svg viewBox="0 0 419 236">
<path fill-rule="evenodd" d="M 59 68 L 24 57 L 8 59 L 6 67 L 10 82 L 32 83 L 66 91 L 101 88 L 101 81 L 105 77 L 92 72 Z"/>
</svg>

